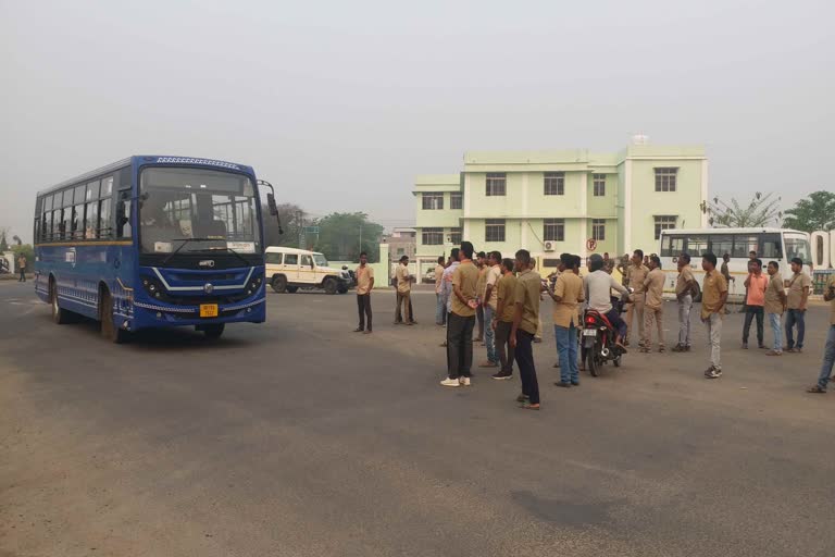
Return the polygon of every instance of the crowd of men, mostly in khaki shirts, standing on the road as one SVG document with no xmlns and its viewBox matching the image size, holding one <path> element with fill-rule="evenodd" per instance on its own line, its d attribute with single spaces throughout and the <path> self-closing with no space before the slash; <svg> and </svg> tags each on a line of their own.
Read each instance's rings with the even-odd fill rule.
<svg viewBox="0 0 835 557">
<path fill-rule="evenodd" d="M 708 379 L 718 379 L 723 373 L 722 326 L 727 313 L 728 280 L 734 280 L 727 270 L 727 255 L 723 259 L 721 270 L 716 270 L 718 259 L 713 253 L 705 255 L 701 261 L 705 278 L 700 288 L 700 319 L 706 326 L 708 338 L 710 363 L 705 371 Z M 664 352 L 665 275 L 661 270 L 660 258 L 656 255 L 645 256 L 639 249 L 635 250 L 631 258 L 623 256 L 616 264 L 622 276 L 620 284 L 608 276 L 615 269 L 615 262 L 609 259 L 608 253 L 602 258 L 593 255 L 588 261 L 589 273 L 583 278 L 579 276 L 581 262 L 578 256 L 560 256 L 558 271 L 548 277 L 549 285 L 549 282 L 544 281 L 536 272 L 535 260 L 524 249 L 516 251 L 514 259 L 503 259 L 498 251 L 476 255 L 473 245 L 463 242 L 460 247 L 451 250 L 448 260 L 438 258 L 435 268 L 435 322 L 446 326 L 446 339 L 441 346 L 447 349 L 447 376 L 440 384 L 447 387 L 472 385 L 475 333 L 475 342 L 483 344 L 486 349 L 486 359 L 478 366 L 495 368 L 496 371 L 491 375 L 495 380 L 508 380 L 513 376 L 515 362 L 522 382 L 522 393 L 516 401 L 521 408 L 539 410 L 539 385 L 533 344 L 541 330 L 539 308 L 544 295 L 553 300 L 554 338 L 559 357 L 554 367 L 560 368 L 560 381 L 556 383 L 558 386 L 568 388 L 579 385 L 578 371 L 584 361 L 584 355 L 579 350 L 579 330 L 586 308 L 607 315 L 616 332 L 615 344 L 623 352 L 626 351 L 631 333 L 635 329 L 639 351 L 648 354 L 652 350 L 655 330 L 658 351 Z M 411 306 L 411 284 L 414 276 L 409 273 L 408 263 L 407 257 L 401 258 L 392 280 L 397 292 L 395 324 L 416 323 Z M 757 345 L 767 349 L 768 356 L 777 357 L 784 354 L 784 331 L 785 352 L 803 350 L 805 314 L 811 293 L 811 277 L 803 272 L 800 259 L 793 259 L 790 264 L 793 277 L 784 283 L 777 261 L 768 263 L 767 275 L 763 273 L 763 262 L 751 252 L 745 280 L 743 349 L 748 349 L 750 329 L 756 322 Z M 678 256 L 675 301 L 678 334 L 672 350 L 689 352 L 690 315 L 694 300 L 699 293 L 689 255 Z M 356 276 L 360 318 L 357 331 L 371 333 L 370 296 L 374 276 L 365 253 L 361 256 Z M 612 292 L 624 295 L 624 299 L 628 301 L 625 321 L 610 302 Z M 832 380 L 835 362 L 835 276 L 826 286 L 824 300 L 831 302 L 831 326 L 821 373 L 818 383 L 808 389 L 809 393 L 825 393 L 826 385 Z M 770 348 L 764 342 L 765 318 L 773 333 Z"/>
</svg>

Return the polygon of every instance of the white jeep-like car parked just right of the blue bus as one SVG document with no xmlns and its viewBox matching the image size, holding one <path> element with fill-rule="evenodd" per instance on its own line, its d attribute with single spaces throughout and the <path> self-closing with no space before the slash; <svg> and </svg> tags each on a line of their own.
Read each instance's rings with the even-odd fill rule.
<svg viewBox="0 0 835 557">
<path fill-rule="evenodd" d="M 325 256 L 316 251 L 271 246 L 264 259 L 266 280 L 277 293 L 322 288 L 327 294 L 345 294 L 353 286 L 348 270 L 327 267 Z"/>
</svg>

